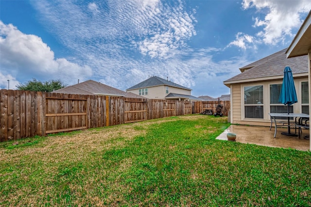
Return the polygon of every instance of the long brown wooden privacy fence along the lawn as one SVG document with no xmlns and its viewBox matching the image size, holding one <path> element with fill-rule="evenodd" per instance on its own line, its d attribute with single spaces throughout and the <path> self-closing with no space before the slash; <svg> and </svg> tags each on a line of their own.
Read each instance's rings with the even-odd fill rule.
<svg viewBox="0 0 311 207">
<path fill-rule="evenodd" d="M 230 101 L 224 105 L 224 115 Z M 216 104 L 216 105 L 215 105 Z M 0 90 L 0 142 L 35 135 L 113 126 L 215 109 L 210 101 L 176 101 L 117 96 Z"/>
</svg>

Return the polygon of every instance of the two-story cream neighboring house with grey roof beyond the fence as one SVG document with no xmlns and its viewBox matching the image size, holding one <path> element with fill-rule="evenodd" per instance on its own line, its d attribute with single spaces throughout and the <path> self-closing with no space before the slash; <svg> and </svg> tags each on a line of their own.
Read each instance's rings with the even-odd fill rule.
<svg viewBox="0 0 311 207">
<path fill-rule="evenodd" d="M 132 92 L 150 99 L 201 101 L 200 98 L 191 96 L 190 88 L 156 76 L 126 89 L 126 92 Z"/>
</svg>

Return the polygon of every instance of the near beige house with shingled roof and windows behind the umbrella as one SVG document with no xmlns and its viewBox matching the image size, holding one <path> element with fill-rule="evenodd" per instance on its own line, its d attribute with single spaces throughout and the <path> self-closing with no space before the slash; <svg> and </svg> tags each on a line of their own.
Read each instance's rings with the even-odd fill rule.
<svg viewBox="0 0 311 207">
<path fill-rule="evenodd" d="M 293 72 L 298 103 L 291 112 L 309 114 L 308 56 L 287 59 L 286 49 L 240 68 L 241 74 L 224 81 L 230 87 L 230 122 L 270 126 L 269 112 L 287 112 L 279 94 L 284 68 Z"/>
</svg>

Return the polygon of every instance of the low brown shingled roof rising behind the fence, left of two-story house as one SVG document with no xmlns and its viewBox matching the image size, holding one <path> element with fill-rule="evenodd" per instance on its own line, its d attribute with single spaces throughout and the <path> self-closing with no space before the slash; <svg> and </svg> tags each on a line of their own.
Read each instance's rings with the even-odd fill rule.
<svg viewBox="0 0 311 207">
<path fill-rule="evenodd" d="M 133 93 L 121 91 L 119 89 L 113 88 L 100 82 L 96 82 L 94 80 L 86 80 L 84 82 L 53 91 L 52 93 L 145 98 Z"/>
</svg>

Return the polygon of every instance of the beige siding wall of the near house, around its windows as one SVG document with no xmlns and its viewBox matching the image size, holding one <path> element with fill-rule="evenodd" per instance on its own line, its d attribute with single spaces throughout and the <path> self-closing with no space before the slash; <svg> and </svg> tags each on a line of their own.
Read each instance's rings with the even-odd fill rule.
<svg viewBox="0 0 311 207">
<path fill-rule="evenodd" d="M 294 112 L 301 113 L 301 82 L 308 81 L 307 77 L 294 79 L 296 94 L 298 102 L 295 103 Z M 270 113 L 270 85 L 271 84 L 281 84 L 282 80 L 274 80 L 274 81 L 265 81 L 265 82 L 256 82 L 256 83 L 236 83 L 230 85 L 231 90 L 231 123 L 232 124 L 245 124 L 245 125 L 257 125 L 257 126 L 270 126 L 271 119 L 269 116 Z M 262 85 L 263 86 L 263 119 L 257 118 L 245 118 L 244 117 L 244 87 L 245 86 L 255 86 Z M 309 84 L 310 87 L 310 84 Z M 310 91 L 310 89 L 309 89 Z M 310 99 L 310 96 L 309 96 Z"/>
</svg>

